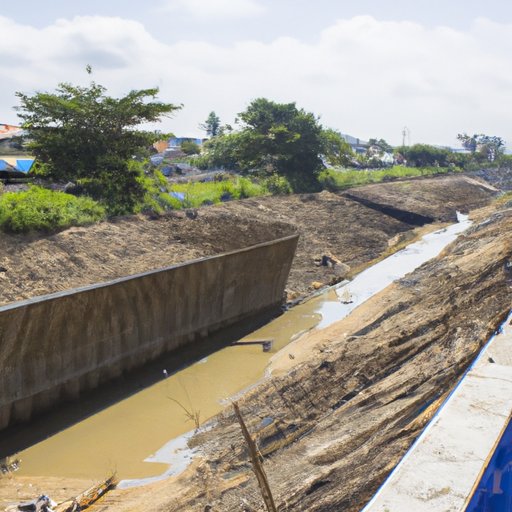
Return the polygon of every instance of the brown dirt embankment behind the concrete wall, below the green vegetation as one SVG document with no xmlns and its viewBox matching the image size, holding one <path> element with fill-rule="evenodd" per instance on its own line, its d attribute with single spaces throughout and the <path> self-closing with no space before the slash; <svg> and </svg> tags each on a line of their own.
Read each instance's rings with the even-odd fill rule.
<svg viewBox="0 0 512 512">
<path fill-rule="evenodd" d="M 371 185 L 345 194 L 263 197 L 149 220 L 117 219 L 57 234 L 0 237 L 0 305 L 235 250 L 299 231 L 288 281 L 294 295 L 329 283 L 338 269 L 314 258 L 333 254 L 367 264 L 412 228 L 455 220 L 455 210 L 487 204 L 494 191 L 462 176 Z M 405 234 L 405 235 L 402 235 Z M 391 240 L 391 242 L 390 242 Z"/>
</svg>

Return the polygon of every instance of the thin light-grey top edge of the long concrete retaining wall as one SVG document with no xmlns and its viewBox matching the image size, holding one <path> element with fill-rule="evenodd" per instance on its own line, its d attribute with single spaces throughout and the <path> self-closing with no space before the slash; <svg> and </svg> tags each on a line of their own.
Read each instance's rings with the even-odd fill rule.
<svg viewBox="0 0 512 512">
<path fill-rule="evenodd" d="M 57 298 L 60 298 L 60 297 L 66 297 L 68 295 L 73 295 L 73 294 L 76 294 L 76 293 L 87 292 L 87 291 L 95 290 L 95 289 L 98 289 L 98 288 L 105 288 L 107 286 L 112 286 L 114 284 L 118 284 L 118 283 L 123 283 L 123 282 L 126 282 L 126 281 L 131 281 L 131 280 L 139 279 L 139 278 L 144 277 L 144 276 L 149 276 L 149 275 L 153 275 L 153 274 L 159 274 L 160 272 L 164 272 L 166 270 L 171 270 L 171 269 L 174 269 L 174 268 L 186 267 L 188 265 L 193 265 L 193 264 L 200 263 L 200 262 L 203 262 L 203 261 L 210 261 L 210 260 L 215 260 L 215 259 L 218 259 L 218 258 L 223 258 L 223 257 L 226 257 L 226 256 L 231 256 L 231 255 L 234 255 L 234 254 L 240 254 L 240 253 L 244 253 L 244 252 L 254 251 L 254 250 L 260 249 L 262 247 L 267 247 L 269 245 L 274 245 L 274 244 L 279 243 L 279 242 L 286 242 L 288 240 L 293 240 L 293 239 L 298 239 L 298 238 L 299 238 L 299 234 L 298 233 L 294 233 L 294 234 L 291 234 L 291 235 L 287 235 L 285 237 L 275 238 L 273 240 L 268 240 L 267 242 L 261 242 L 259 244 L 250 245 L 249 247 L 244 247 L 243 249 L 236 249 L 234 251 L 227 251 L 227 252 L 223 252 L 223 253 L 219 253 L 219 254 L 214 254 L 212 256 L 204 256 L 202 258 L 196 258 L 196 259 L 188 260 L 188 261 L 185 261 L 185 262 L 182 262 L 182 263 L 175 263 L 175 264 L 169 265 L 167 267 L 161 267 L 161 268 L 157 268 L 157 269 L 153 269 L 153 270 L 148 270 L 146 272 L 140 272 L 138 274 L 132 274 L 132 275 L 129 275 L 129 276 L 118 277 L 116 279 L 112 279 L 112 280 L 109 280 L 109 281 L 102 281 L 100 283 L 89 284 L 89 285 L 80 286 L 80 287 L 76 287 L 76 288 L 69 288 L 68 290 L 63 290 L 63 291 L 60 291 L 60 292 L 49 293 L 49 294 L 46 294 L 46 295 L 38 295 L 37 297 L 31 297 L 29 299 L 24 299 L 24 300 L 20 300 L 20 301 L 10 302 L 8 304 L 5 304 L 4 306 L 0 306 L 0 313 L 2 313 L 4 311 L 9 311 L 11 309 L 21 308 L 21 307 L 27 306 L 29 304 L 36 304 L 38 302 L 44 302 L 44 301 L 51 300 L 51 299 L 57 299 Z"/>
</svg>

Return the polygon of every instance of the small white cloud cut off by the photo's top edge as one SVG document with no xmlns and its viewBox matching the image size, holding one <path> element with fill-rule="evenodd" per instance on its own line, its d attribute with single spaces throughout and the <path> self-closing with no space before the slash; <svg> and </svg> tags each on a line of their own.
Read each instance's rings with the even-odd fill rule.
<svg viewBox="0 0 512 512">
<path fill-rule="evenodd" d="M 163 8 L 208 20 L 250 18 L 265 12 L 256 0 L 166 0 Z"/>
</svg>

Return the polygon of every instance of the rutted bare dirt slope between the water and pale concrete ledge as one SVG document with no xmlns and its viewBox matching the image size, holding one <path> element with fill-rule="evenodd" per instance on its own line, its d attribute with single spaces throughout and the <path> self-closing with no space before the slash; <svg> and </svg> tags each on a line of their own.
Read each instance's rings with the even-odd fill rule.
<svg viewBox="0 0 512 512">
<path fill-rule="evenodd" d="M 512 209 L 332 327 L 289 345 L 274 376 L 240 401 L 278 510 L 358 511 L 510 308 Z M 103 506 L 262 510 L 232 411 L 193 440 L 203 457 L 174 481 Z"/>
</svg>

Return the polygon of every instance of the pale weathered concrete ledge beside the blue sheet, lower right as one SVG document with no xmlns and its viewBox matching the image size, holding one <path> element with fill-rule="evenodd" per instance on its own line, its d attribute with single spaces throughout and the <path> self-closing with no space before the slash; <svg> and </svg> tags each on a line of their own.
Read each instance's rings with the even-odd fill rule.
<svg viewBox="0 0 512 512">
<path fill-rule="evenodd" d="M 507 325 L 364 512 L 466 509 L 510 420 L 511 352 L 512 327 Z"/>
</svg>

